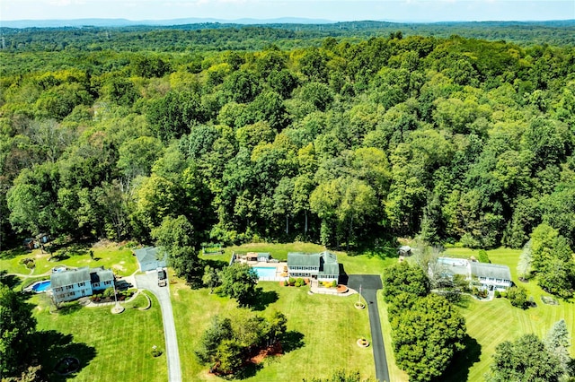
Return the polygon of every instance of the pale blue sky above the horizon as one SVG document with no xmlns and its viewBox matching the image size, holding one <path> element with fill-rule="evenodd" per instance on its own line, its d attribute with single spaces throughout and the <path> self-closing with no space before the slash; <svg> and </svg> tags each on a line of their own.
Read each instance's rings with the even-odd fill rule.
<svg viewBox="0 0 575 382">
<path fill-rule="evenodd" d="M 0 22 L 87 18 L 274 19 L 334 22 L 545 21 L 575 19 L 575 0 L 0 0 Z"/>
</svg>

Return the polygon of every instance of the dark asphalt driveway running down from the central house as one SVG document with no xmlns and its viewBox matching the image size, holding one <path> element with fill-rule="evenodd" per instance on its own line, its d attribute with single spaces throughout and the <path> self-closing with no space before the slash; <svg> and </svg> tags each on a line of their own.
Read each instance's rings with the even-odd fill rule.
<svg viewBox="0 0 575 382">
<path fill-rule="evenodd" d="M 381 332 L 381 321 L 379 319 L 379 310 L 377 309 L 377 290 L 383 287 L 381 277 L 378 274 L 349 274 L 348 286 L 356 291 L 359 291 L 359 286 L 361 286 L 361 295 L 367 301 L 367 311 L 369 313 L 371 344 L 374 350 L 374 360 L 376 361 L 376 378 L 380 382 L 389 382 L 384 336 Z"/>
</svg>

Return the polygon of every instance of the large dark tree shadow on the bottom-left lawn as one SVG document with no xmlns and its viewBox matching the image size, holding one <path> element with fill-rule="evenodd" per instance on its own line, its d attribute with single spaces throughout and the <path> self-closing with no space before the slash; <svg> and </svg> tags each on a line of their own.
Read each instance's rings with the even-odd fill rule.
<svg viewBox="0 0 575 382">
<path fill-rule="evenodd" d="M 43 373 L 50 381 L 65 381 L 75 378 L 76 374 L 84 369 L 96 356 L 96 350 L 85 343 L 73 342 L 72 334 L 62 334 L 56 330 L 36 332 L 34 343 Z M 80 361 L 80 367 L 67 375 L 60 375 L 55 371 L 57 363 L 65 357 L 73 357 Z"/>
</svg>

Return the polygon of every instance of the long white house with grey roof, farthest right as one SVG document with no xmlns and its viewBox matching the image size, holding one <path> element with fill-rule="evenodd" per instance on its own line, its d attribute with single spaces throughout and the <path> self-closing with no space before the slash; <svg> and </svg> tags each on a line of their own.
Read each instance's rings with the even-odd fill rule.
<svg viewBox="0 0 575 382">
<path fill-rule="evenodd" d="M 486 291 L 505 291 L 512 285 L 509 266 L 464 258 L 438 257 L 436 263 L 429 264 L 429 273 L 443 278 L 453 278 L 459 274 L 473 286 Z"/>
</svg>

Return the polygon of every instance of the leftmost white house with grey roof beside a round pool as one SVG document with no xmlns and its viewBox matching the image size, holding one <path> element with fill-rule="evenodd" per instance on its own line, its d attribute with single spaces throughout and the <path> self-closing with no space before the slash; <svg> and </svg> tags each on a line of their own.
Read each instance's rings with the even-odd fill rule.
<svg viewBox="0 0 575 382">
<path fill-rule="evenodd" d="M 92 296 L 96 291 L 110 288 L 114 283 L 114 273 L 110 269 L 83 268 L 69 269 L 52 273 L 50 287 L 54 301 L 64 302 Z"/>
</svg>

